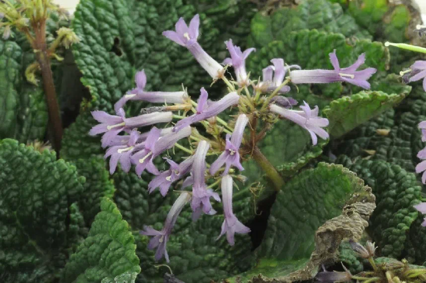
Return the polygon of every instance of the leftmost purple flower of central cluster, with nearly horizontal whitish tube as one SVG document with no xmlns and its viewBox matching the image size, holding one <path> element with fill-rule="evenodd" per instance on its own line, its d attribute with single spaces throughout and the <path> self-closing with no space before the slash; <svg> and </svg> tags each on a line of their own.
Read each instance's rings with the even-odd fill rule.
<svg viewBox="0 0 426 283">
<path fill-rule="evenodd" d="M 99 125 L 94 126 L 90 131 L 90 136 L 105 133 L 102 136 L 102 147 L 107 147 L 112 141 L 117 139 L 118 134 L 123 131 L 130 132 L 135 128 L 149 126 L 156 123 L 172 121 L 172 112 L 154 112 L 143 114 L 137 117 L 126 118 L 123 108 L 117 111 L 117 115 L 110 115 L 105 111 L 92 111 L 93 118 L 100 122 Z"/>
</svg>

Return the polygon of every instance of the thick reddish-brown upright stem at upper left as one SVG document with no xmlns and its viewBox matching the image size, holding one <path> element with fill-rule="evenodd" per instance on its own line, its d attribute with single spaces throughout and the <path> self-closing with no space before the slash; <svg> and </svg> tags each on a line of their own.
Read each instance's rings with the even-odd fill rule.
<svg viewBox="0 0 426 283">
<path fill-rule="evenodd" d="M 33 48 L 36 50 L 37 62 L 43 79 L 44 95 L 46 97 L 47 109 L 49 113 L 49 128 L 52 135 L 52 146 L 59 157 L 62 140 L 62 122 L 59 103 L 56 96 L 53 73 L 50 65 L 50 58 L 46 44 L 46 22 L 44 20 L 33 23 L 35 40 Z"/>
</svg>

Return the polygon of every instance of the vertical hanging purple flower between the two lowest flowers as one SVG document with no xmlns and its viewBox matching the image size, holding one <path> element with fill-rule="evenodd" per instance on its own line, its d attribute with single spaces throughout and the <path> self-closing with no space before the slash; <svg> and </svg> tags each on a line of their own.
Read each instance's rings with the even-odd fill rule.
<svg viewBox="0 0 426 283">
<path fill-rule="evenodd" d="M 191 208 L 194 211 L 193 220 L 198 219 L 201 213 L 209 215 L 216 213 L 213 210 L 210 198 L 213 197 L 220 202 L 219 195 L 211 189 L 207 189 L 204 173 L 206 171 L 206 154 L 210 144 L 207 141 L 200 141 L 195 151 L 194 163 L 192 164 L 192 175 L 194 177 L 194 185 L 192 186 Z"/>
</svg>

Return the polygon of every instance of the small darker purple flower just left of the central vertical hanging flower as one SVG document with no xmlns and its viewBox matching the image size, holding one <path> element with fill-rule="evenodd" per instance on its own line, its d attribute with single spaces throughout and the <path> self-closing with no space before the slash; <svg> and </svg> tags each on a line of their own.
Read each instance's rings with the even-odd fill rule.
<svg viewBox="0 0 426 283">
<path fill-rule="evenodd" d="M 182 179 L 191 170 L 194 157 L 191 156 L 180 164 L 177 164 L 169 158 L 166 158 L 166 161 L 169 163 L 170 168 L 161 172 L 159 175 L 155 176 L 151 182 L 149 182 L 149 193 L 152 193 L 156 188 L 159 187 L 160 194 L 164 197 L 167 194 L 171 184 L 177 180 Z"/>
</svg>

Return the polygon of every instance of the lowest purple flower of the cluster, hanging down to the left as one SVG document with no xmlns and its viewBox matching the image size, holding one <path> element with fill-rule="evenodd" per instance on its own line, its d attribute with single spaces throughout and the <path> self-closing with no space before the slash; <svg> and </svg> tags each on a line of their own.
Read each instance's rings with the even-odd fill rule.
<svg viewBox="0 0 426 283">
<path fill-rule="evenodd" d="M 156 261 L 160 260 L 164 256 L 166 261 L 169 262 L 169 255 L 166 250 L 167 241 L 169 240 L 179 213 L 190 199 L 191 196 L 189 193 L 184 192 L 180 194 L 169 213 L 167 213 L 166 221 L 164 222 L 164 227 L 161 231 L 157 231 L 149 226 L 143 226 L 143 230 L 140 233 L 145 236 L 153 236 L 153 238 L 149 240 L 148 249 L 152 250 L 157 248 L 154 256 Z"/>
</svg>

